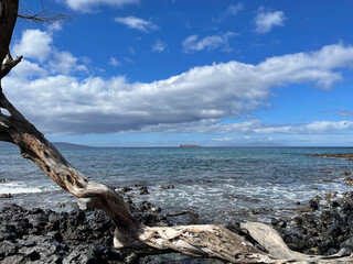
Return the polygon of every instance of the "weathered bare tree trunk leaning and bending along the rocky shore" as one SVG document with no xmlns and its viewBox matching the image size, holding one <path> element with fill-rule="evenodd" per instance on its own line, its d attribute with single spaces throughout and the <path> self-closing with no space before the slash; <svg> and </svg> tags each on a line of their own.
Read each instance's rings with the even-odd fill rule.
<svg viewBox="0 0 353 264">
<path fill-rule="evenodd" d="M 353 262 L 353 257 L 342 254 L 325 257 L 293 252 L 274 229 L 263 223 L 248 222 L 242 228 L 247 230 L 267 252 L 257 250 L 243 237 L 222 226 L 161 228 L 140 224 L 114 189 L 95 183 L 77 172 L 4 96 L 1 79 L 22 59 L 22 56 L 13 59 L 9 51 L 18 8 L 19 0 L 0 1 L 0 140 L 18 145 L 24 158 L 34 162 L 58 186 L 78 197 L 82 209 L 104 210 L 116 227 L 114 234 L 116 249 L 127 249 L 143 254 L 180 252 L 191 256 L 218 258 L 226 263 Z"/>
</svg>

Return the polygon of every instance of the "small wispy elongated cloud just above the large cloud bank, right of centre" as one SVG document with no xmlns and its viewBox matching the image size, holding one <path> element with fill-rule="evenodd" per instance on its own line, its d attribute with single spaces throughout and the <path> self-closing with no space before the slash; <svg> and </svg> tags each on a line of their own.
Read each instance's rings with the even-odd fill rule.
<svg viewBox="0 0 353 264">
<path fill-rule="evenodd" d="M 235 33 L 227 32 L 222 35 L 206 36 L 202 40 L 199 40 L 199 35 L 191 35 L 183 41 L 182 45 L 185 53 L 193 53 L 203 50 L 212 51 L 216 48 L 229 51 L 231 47 L 228 40 L 234 35 Z"/>
</svg>

